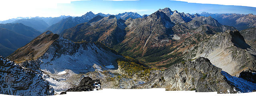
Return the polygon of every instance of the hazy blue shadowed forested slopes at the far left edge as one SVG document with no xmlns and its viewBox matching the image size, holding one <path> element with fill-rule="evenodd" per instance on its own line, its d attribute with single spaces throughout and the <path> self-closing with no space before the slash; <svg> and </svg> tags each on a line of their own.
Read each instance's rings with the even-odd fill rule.
<svg viewBox="0 0 256 96">
<path fill-rule="evenodd" d="M 0 24 L 0 54 L 6 57 L 40 34 L 23 24 Z"/>
</svg>

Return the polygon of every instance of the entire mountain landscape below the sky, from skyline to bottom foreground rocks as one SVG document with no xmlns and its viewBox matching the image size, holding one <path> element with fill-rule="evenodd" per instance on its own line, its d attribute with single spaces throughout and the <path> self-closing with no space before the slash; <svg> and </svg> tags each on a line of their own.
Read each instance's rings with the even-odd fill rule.
<svg viewBox="0 0 256 96">
<path fill-rule="evenodd" d="M 2 21 L 0 94 L 102 88 L 255 92 L 255 18 L 164 8 L 143 16 L 87 12 Z"/>
</svg>

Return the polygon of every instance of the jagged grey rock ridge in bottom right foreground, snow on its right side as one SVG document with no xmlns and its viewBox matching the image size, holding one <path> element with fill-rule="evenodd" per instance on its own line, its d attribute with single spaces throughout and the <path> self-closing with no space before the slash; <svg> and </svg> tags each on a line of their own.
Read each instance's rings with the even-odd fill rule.
<svg viewBox="0 0 256 96">
<path fill-rule="evenodd" d="M 256 90 L 256 84 L 242 78 L 230 76 L 210 62 L 200 57 L 195 61 L 174 64 L 142 88 L 166 88 L 166 90 L 196 90 L 196 92 L 240 93 Z M 135 88 L 141 88 L 135 86 Z"/>
</svg>

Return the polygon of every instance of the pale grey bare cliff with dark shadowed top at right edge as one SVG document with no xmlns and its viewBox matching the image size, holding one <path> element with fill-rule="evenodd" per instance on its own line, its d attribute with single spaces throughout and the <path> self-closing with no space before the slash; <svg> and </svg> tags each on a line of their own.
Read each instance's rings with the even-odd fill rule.
<svg viewBox="0 0 256 96">
<path fill-rule="evenodd" d="M 238 31 L 215 34 L 198 44 L 196 57 L 209 58 L 212 64 L 232 76 L 246 68 L 256 69 L 256 49 Z"/>
</svg>

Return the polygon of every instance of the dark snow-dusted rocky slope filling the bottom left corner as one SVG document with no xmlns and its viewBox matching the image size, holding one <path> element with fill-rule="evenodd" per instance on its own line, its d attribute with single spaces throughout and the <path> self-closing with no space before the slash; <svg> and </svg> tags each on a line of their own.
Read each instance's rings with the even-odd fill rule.
<svg viewBox="0 0 256 96">
<path fill-rule="evenodd" d="M 42 73 L 26 70 L 0 56 L 0 94 L 44 96 L 54 95 L 54 90 Z"/>
</svg>

